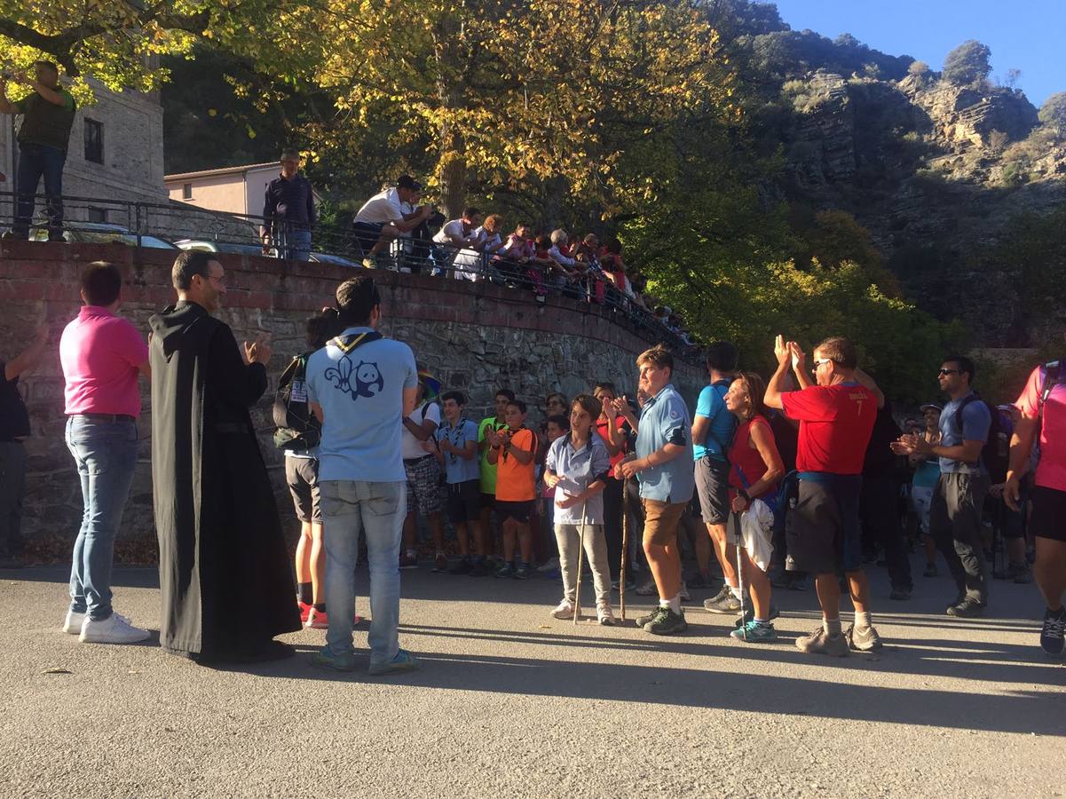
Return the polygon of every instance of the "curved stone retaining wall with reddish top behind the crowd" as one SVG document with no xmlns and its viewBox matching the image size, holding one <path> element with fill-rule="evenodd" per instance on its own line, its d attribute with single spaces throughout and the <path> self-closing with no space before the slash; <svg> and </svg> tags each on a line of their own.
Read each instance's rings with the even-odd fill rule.
<svg viewBox="0 0 1066 799">
<path fill-rule="evenodd" d="M 0 241 L 0 358 L 23 349 L 34 320 L 47 303 L 51 339 L 37 371 L 19 385 L 30 409 L 33 435 L 27 441 L 30 475 L 23 533 L 30 556 L 62 560 L 80 524 L 81 494 L 69 453 L 63 443 L 63 378 L 59 337 L 78 313 L 78 273 L 93 260 L 120 265 L 126 276 L 122 314 L 147 334 L 148 317 L 173 302 L 169 269 L 174 253 L 135 250 L 120 244 L 47 244 Z M 271 388 L 253 411 L 260 445 L 277 488 L 286 520 L 290 500 L 282 485 L 281 459 L 274 449 L 270 403 L 277 377 L 303 348 L 303 323 L 332 304 L 337 284 L 350 272 L 321 263 L 287 265 L 270 258 L 221 256 L 229 290 L 220 311 L 238 340 L 258 332 L 272 334 L 274 356 L 268 367 Z M 470 415 L 479 418 L 491 406 L 498 386 L 513 388 L 531 409 L 544 396 L 562 390 L 574 396 L 598 380 L 614 381 L 620 390 L 635 390 L 635 355 L 653 338 L 629 329 L 609 309 L 564 299 L 537 305 L 521 291 L 482 283 L 379 272 L 383 332 L 408 342 L 419 364 L 446 387 L 464 390 Z M 702 371 L 679 363 L 679 388 L 690 403 L 702 385 Z M 151 515 L 150 406 L 142 391 L 144 414 L 138 472 L 119 536 L 117 557 L 126 562 L 155 559 Z M 533 410 L 531 420 L 539 419 Z M 292 529 L 287 523 L 287 529 Z"/>
</svg>

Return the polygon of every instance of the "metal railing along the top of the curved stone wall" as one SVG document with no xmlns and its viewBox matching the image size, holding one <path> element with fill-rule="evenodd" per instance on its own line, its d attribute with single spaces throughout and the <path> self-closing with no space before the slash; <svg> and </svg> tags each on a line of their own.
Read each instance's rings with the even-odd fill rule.
<svg viewBox="0 0 1066 799">
<path fill-rule="evenodd" d="M 287 230 L 263 217 L 211 211 L 181 203 L 152 203 L 63 195 L 61 235 L 65 241 L 122 242 L 131 246 L 181 247 L 244 255 L 287 256 Z M 0 227 L 16 228 L 18 196 L 0 192 Z M 60 235 L 54 225 L 54 199 L 34 196 L 28 236 L 45 241 Z M 52 220 L 50 222 L 50 220 Z M 25 220 L 23 220 L 25 224 Z M 266 245 L 260 230 L 271 233 Z M 351 223 L 319 225 L 311 237 L 311 261 L 425 274 L 443 279 L 485 281 L 530 292 L 534 300 L 565 297 L 604 316 L 644 338 L 663 341 L 676 354 L 695 362 L 696 348 L 667 329 L 634 299 L 618 290 L 595 261 L 578 262 L 574 277 L 550 259 L 515 260 L 473 249 L 416 237 L 401 237 L 372 258 L 374 242 Z"/>
</svg>

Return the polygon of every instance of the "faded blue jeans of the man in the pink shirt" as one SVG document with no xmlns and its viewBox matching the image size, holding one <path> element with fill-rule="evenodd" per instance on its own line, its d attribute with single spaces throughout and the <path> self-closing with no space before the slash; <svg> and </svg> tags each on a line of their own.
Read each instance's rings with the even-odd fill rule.
<svg viewBox="0 0 1066 799">
<path fill-rule="evenodd" d="M 111 616 L 111 565 L 136 467 L 136 425 L 70 416 L 66 443 L 85 508 L 74 542 L 70 610 L 99 621 Z"/>
</svg>

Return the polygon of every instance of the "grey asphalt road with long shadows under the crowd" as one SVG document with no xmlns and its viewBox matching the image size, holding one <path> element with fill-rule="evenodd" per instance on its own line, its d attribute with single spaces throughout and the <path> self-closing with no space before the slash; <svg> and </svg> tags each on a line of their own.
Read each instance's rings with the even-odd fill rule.
<svg viewBox="0 0 1066 799">
<path fill-rule="evenodd" d="M 964 621 L 942 616 L 947 577 L 918 577 L 910 602 L 875 601 L 885 649 L 836 660 L 793 645 L 817 623 L 811 591 L 779 592 L 782 640 L 754 645 L 696 609 L 702 594 L 688 635 L 655 638 L 551 619 L 547 578 L 425 564 L 403 573 L 401 629 L 422 669 L 383 680 L 312 667 L 319 630 L 245 671 L 158 636 L 80 644 L 60 630 L 65 577 L 0 572 L 3 796 L 1066 794 L 1066 668 L 1037 645 L 1033 586 L 996 582 L 990 614 Z M 158 629 L 155 572 L 115 585 L 116 608 Z M 629 594 L 630 619 L 646 607 Z M 356 645 L 366 657 L 365 624 Z"/>
</svg>

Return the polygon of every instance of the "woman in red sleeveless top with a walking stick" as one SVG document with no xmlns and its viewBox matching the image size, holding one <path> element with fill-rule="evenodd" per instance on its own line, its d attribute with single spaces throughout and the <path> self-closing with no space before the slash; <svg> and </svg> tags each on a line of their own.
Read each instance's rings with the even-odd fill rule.
<svg viewBox="0 0 1066 799">
<path fill-rule="evenodd" d="M 732 516 L 739 516 L 756 498 L 769 499 L 785 475 L 785 465 L 774 442 L 774 433 L 765 417 L 762 397 L 766 385 L 754 372 L 741 372 L 726 393 L 726 409 L 737 417 L 739 426 L 729 447 L 729 500 Z M 739 518 L 730 518 L 739 525 Z M 736 529 L 734 527 L 732 529 Z M 744 581 L 752 589 L 754 617 L 742 620 L 742 626 L 730 635 L 748 642 L 772 641 L 777 638 L 771 624 L 770 578 L 742 550 Z"/>
</svg>

